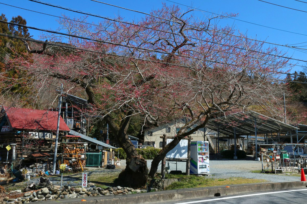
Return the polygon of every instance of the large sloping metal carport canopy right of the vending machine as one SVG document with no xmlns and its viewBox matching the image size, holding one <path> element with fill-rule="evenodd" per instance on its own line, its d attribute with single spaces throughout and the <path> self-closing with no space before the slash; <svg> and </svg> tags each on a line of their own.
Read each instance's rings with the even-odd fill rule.
<svg viewBox="0 0 307 204">
<path fill-rule="evenodd" d="M 234 128 L 237 136 L 253 135 L 255 134 L 255 121 L 257 134 L 286 133 L 299 129 L 251 110 L 210 119 L 206 127 L 215 131 L 219 130 L 220 133 L 229 136 L 234 134 Z"/>
</svg>

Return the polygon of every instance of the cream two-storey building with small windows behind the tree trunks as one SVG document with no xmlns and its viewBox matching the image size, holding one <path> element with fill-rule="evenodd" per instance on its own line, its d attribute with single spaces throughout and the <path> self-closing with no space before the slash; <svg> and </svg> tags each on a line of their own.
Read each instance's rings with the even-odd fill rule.
<svg viewBox="0 0 307 204">
<path fill-rule="evenodd" d="M 154 127 L 146 129 L 144 131 L 144 145 L 151 146 L 155 148 L 162 148 L 163 139 L 160 136 L 164 134 L 166 136 L 175 136 L 177 132 L 185 125 L 185 119 L 180 119 L 174 123 L 169 123 L 165 125 L 160 125 L 159 127 Z M 206 128 L 200 128 L 196 132 L 192 133 L 192 141 L 209 141 L 211 147 L 214 149 L 214 145 L 210 137 L 206 134 Z"/>
</svg>

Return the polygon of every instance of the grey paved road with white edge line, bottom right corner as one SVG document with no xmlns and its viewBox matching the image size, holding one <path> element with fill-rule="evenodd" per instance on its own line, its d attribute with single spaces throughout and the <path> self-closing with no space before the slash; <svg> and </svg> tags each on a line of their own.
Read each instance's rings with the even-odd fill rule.
<svg viewBox="0 0 307 204">
<path fill-rule="evenodd" d="M 266 192 L 253 192 L 250 194 L 238 194 L 230 196 L 206 197 L 195 200 L 181 200 L 165 202 L 161 204 L 279 204 L 279 203 L 306 203 L 307 188 L 290 189 Z"/>
</svg>

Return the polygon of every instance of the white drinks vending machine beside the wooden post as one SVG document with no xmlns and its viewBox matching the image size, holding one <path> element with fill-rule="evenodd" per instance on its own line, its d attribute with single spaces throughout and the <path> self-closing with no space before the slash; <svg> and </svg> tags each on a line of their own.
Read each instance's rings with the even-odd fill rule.
<svg viewBox="0 0 307 204">
<path fill-rule="evenodd" d="M 209 174 L 209 142 L 191 142 L 190 174 Z"/>
</svg>

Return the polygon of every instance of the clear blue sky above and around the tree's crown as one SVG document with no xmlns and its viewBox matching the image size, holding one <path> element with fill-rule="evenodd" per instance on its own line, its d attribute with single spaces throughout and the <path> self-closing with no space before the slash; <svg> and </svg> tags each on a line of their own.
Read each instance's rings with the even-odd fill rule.
<svg viewBox="0 0 307 204">
<path fill-rule="evenodd" d="M 111 18 L 120 15 L 122 17 L 125 17 L 125 20 L 130 20 L 130 19 L 138 19 L 139 17 L 144 16 L 144 14 L 126 11 L 112 6 L 103 5 L 97 2 L 92 2 L 90 0 L 75 0 L 75 1 L 44 0 L 44 1 Z M 162 6 L 162 2 L 165 2 L 167 5 L 173 4 L 165 0 L 163 1 L 99 0 L 99 1 L 114 4 L 117 6 L 122 6 L 129 9 L 142 11 L 145 13 L 149 13 L 150 10 L 152 9 L 160 8 Z M 307 48 L 307 32 L 306 32 L 307 21 L 305 20 L 307 17 L 307 13 L 305 12 L 300 12 L 287 8 L 282 8 L 279 6 L 270 5 L 268 3 L 261 2 L 258 0 L 231 0 L 231 1 L 230 0 L 195 0 L 195 1 L 172 0 L 172 1 L 196 7 L 198 9 L 202 9 L 213 13 L 238 13 L 238 17 L 236 18 L 240 20 L 245 20 L 256 24 L 261 24 L 273 28 L 304 34 L 304 35 L 298 35 L 298 34 L 278 31 L 233 19 L 221 19 L 219 21 L 219 25 L 221 26 L 232 25 L 234 26 L 235 29 L 240 30 L 240 32 L 243 33 L 247 32 L 247 35 L 251 38 L 257 38 L 258 40 L 266 40 L 267 42 L 277 43 L 282 45 L 302 43 L 298 44 L 297 46 L 306 46 L 303 48 Z M 287 6 L 290 8 L 304 10 L 307 12 L 307 3 L 297 2 L 295 0 L 265 0 L 265 1 L 279 4 L 282 6 Z M 61 14 L 65 14 L 70 17 L 82 16 L 82 14 L 41 5 L 28 0 L 0 0 L 0 2 L 56 16 L 60 16 Z M 185 6 L 180 6 L 180 7 L 184 10 L 187 9 L 187 7 Z M 30 11 L 25 11 L 1 4 L 0 8 L 1 8 L 0 12 L 6 14 L 6 17 L 9 20 L 13 16 L 21 15 L 27 20 L 27 25 L 29 26 L 52 29 L 52 30 L 58 27 L 55 17 L 33 13 Z M 204 16 L 211 15 L 210 13 L 197 12 L 197 11 L 195 14 L 199 18 L 204 18 Z M 89 17 L 88 20 L 96 23 L 101 19 L 97 17 Z M 34 35 L 33 36 L 34 39 L 38 39 L 39 31 L 30 30 L 30 34 Z M 278 46 L 278 48 L 280 50 L 283 50 L 284 52 L 287 52 L 287 55 L 289 57 L 307 61 L 306 53 L 295 51 L 293 49 L 289 49 L 282 46 Z M 291 63 L 295 64 L 298 63 L 298 65 L 306 65 L 306 62 L 299 62 L 299 61 L 292 61 Z M 302 67 L 297 66 L 294 67 L 291 72 L 300 71 L 301 69 Z"/>
</svg>

